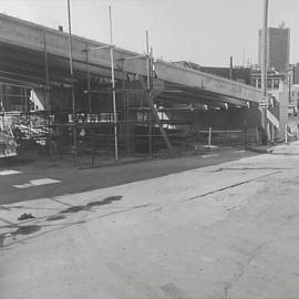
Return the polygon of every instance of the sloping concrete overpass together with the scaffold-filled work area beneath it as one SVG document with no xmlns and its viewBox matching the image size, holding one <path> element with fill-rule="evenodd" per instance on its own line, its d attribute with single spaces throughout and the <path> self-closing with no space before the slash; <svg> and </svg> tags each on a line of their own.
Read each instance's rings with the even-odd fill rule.
<svg viewBox="0 0 299 299">
<path fill-rule="evenodd" d="M 193 66 L 154 59 L 0 14 L 4 156 L 101 161 L 246 148 L 281 138 L 282 105 L 261 122 L 260 90 Z M 231 70 L 233 71 L 233 70 Z M 3 147 L 4 145 L 2 145 Z"/>
</svg>

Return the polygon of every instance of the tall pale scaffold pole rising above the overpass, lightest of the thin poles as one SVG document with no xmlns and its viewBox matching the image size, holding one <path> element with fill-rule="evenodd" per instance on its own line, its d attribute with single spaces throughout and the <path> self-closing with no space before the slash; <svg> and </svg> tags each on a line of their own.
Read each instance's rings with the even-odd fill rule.
<svg viewBox="0 0 299 299">
<path fill-rule="evenodd" d="M 114 60 L 113 60 L 113 35 L 112 35 L 112 16 L 111 6 L 109 7 L 110 16 L 110 59 L 111 59 L 111 78 L 112 78 L 112 99 L 113 99 L 113 121 L 114 121 L 114 152 L 115 159 L 118 159 L 118 145 L 117 145 L 117 114 L 116 114 L 116 95 L 115 95 L 115 78 L 114 78 Z"/>
</svg>

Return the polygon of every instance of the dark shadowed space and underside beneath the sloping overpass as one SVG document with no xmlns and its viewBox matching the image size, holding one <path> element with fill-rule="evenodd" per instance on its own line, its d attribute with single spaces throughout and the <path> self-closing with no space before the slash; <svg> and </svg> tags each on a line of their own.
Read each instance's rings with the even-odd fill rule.
<svg viewBox="0 0 299 299">
<path fill-rule="evenodd" d="M 73 109 L 73 84 L 78 134 L 83 128 L 84 136 L 96 140 L 95 147 L 113 152 L 110 68 L 74 59 L 74 75 L 71 78 L 69 59 L 48 53 L 47 48 L 38 51 L 4 42 L 0 43 L 0 82 L 32 89 L 40 103 L 39 109 L 48 115 L 44 117 L 54 115 L 55 123 L 51 123 L 51 132 L 64 136 L 66 143 L 72 144 L 73 141 L 66 137 L 69 128 L 65 127 Z M 118 147 L 125 153 L 155 151 L 165 147 L 167 142 L 172 147 L 177 144 L 186 146 L 190 140 L 193 145 L 197 142 L 207 143 L 205 132 L 209 127 L 238 131 L 241 135 L 239 140 L 244 138 L 240 132 L 246 131 L 256 141 L 259 125 L 256 102 L 212 92 L 205 86 L 163 80 L 158 73 L 151 80 L 151 94 L 145 89 L 146 76 L 142 74 L 116 68 L 115 78 Z M 16 110 L 8 101 L 10 95 L 2 96 L 7 96 L 6 110 Z M 31 101 L 34 102 L 34 99 Z M 32 114 L 30 110 L 37 107 L 34 105 L 23 102 L 22 112 Z M 200 131 L 204 132 L 204 141 L 198 137 Z M 166 140 L 163 132 L 166 133 Z"/>
</svg>

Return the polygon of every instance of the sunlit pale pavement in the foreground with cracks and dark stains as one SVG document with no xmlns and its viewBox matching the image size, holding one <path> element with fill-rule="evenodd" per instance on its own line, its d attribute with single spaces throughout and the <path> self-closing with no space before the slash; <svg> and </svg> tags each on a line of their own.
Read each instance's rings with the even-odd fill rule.
<svg viewBox="0 0 299 299">
<path fill-rule="evenodd" d="M 298 182 L 296 142 L 2 205 L 0 298 L 298 298 Z"/>
</svg>

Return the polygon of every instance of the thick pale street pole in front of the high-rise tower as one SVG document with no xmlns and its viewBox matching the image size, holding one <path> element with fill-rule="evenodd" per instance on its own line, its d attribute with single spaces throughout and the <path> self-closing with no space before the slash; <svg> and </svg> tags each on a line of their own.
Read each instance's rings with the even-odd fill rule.
<svg viewBox="0 0 299 299">
<path fill-rule="evenodd" d="M 261 65 L 261 87 L 262 96 L 267 99 L 267 49 L 268 49 L 268 0 L 264 0 L 264 22 L 262 22 L 262 65 Z M 267 144 L 267 107 L 261 107 L 262 143 Z"/>
</svg>

